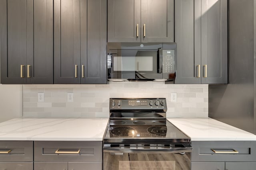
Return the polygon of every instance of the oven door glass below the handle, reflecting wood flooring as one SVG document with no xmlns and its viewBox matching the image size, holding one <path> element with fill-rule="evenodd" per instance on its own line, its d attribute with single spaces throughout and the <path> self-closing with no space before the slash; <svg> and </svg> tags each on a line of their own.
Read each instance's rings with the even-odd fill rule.
<svg viewBox="0 0 256 170">
<path fill-rule="evenodd" d="M 190 170 L 190 153 L 135 154 L 103 152 L 104 170 Z"/>
</svg>

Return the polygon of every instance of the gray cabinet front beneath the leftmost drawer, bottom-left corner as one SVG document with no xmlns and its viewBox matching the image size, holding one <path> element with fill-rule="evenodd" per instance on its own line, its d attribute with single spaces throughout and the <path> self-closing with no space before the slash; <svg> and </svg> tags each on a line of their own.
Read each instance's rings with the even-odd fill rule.
<svg viewBox="0 0 256 170">
<path fill-rule="evenodd" d="M 1 170 L 33 170 L 33 162 L 0 162 Z"/>
</svg>

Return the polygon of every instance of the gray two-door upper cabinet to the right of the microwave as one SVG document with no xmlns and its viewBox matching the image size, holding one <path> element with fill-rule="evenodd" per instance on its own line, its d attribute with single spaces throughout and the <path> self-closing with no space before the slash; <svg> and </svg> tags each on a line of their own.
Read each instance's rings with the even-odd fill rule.
<svg viewBox="0 0 256 170">
<path fill-rule="evenodd" d="M 228 83 L 227 38 L 227 0 L 175 0 L 175 83 Z"/>
</svg>

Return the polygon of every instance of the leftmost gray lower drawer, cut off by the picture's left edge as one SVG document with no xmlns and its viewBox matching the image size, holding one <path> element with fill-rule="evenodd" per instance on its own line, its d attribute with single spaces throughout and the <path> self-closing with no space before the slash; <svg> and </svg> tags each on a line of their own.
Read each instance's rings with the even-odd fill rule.
<svg viewBox="0 0 256 170">
<path fill-rule="evenodd" d="M 33 162 L 33 141 L 0 141 L 1 162 Z"/>
</svg>

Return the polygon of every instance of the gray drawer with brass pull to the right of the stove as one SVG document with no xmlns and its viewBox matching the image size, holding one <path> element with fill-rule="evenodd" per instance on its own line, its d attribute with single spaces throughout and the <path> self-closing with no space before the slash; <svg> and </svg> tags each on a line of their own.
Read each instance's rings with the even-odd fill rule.
<svg viewBox="0 0 256 170">
<path fill-rule="evenodd" d="M 256 162 L 256 141 L 192 141 L 192 162 Z"/>
</svg>

